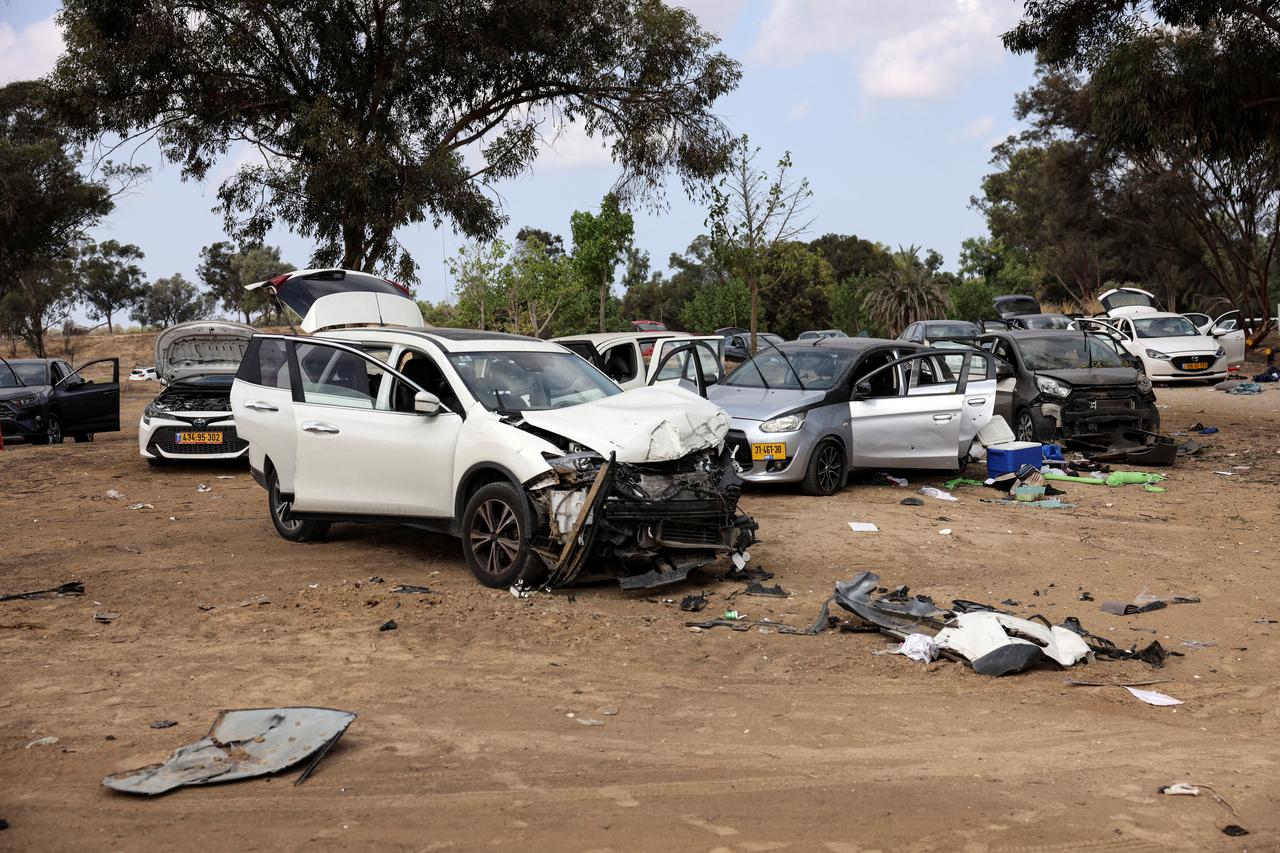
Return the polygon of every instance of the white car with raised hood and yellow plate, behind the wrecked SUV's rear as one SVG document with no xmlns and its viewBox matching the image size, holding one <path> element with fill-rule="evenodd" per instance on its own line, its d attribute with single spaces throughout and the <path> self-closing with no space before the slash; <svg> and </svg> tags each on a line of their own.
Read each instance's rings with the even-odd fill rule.
<svg viewBox="0 0 1280 853">
<path fill-rule="evenodd" d="M 253 328 L 224 320 L 169 327 L 156 338 L 164 389 L 142 410 L 138 452 L 152 465 L 239 459 L 248 450 L 232 415 L 232 379 Z"/>
</svg>

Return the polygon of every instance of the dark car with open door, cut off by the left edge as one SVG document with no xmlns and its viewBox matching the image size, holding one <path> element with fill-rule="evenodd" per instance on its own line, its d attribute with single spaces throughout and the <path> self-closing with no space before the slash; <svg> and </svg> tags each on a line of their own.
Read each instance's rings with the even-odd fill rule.
<svg viewBox="0 0 1280 853">
<path fill-rule="evenodd" d="M 119 359 L 99 359 L 74 370 L 60 359 L 0 359 L 0 432 L 5 438 L 60 444 L 65 435 L 91 442 L 93 433 L 119 429 Z"/>
</svg>

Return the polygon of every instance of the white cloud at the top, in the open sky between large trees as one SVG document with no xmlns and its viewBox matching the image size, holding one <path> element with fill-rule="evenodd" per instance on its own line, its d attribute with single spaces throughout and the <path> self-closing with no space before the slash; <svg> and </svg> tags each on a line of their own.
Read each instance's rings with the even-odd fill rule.
<svg viewBox="0 0 1280 853">
<path fill-rule="evenodd" d="M 751 55 L 776 67 L 846 55 L 864 97 L 932 99 L 998 67 L 1018 14 L 1007 0 L 772 0 Z"/>
</svg>

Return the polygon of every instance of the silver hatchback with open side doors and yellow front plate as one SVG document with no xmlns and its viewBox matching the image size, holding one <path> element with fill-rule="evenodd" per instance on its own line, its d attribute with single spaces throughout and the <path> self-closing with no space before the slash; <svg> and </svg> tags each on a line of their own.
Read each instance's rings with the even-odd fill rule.
<svg viewBox="0 0 1280 853">
<path fill-rule="evenodd" d="M 996 405 L 989 353 L 822 338 L 762 350 L 708 389 L 753 483 L 840 491 L 850 469 L 957 470 Z"/>
</svg>

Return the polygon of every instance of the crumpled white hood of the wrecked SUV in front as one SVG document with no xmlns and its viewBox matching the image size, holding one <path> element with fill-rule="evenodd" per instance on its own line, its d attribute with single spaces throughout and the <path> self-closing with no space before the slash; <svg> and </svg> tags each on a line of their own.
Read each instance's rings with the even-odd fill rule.
<svg viewBox="0 0 1280 853">
<path fill-rule="evenodd" d="M 716 403 L 673 386 L 635 388 L 568 409 L 522 412 L 525 423 L 563 435 L 621 462 L 667 462 L 708 447 L 728 433 Z"/>
</svg>

